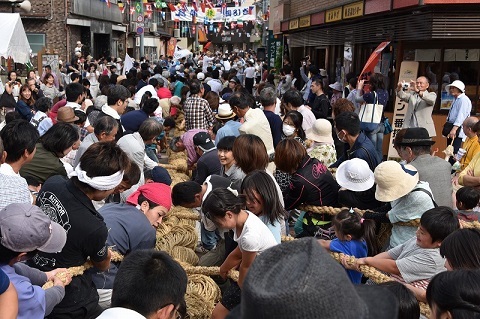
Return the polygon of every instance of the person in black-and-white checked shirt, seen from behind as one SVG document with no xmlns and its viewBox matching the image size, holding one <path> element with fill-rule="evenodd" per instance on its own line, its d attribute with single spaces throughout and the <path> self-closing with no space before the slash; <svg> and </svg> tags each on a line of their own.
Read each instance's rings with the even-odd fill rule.
<svg viewBox="0 0 480 319">
<path fill-rule="evenodd" d="M 192 80 L 190 82 L 190 97 L 183 106 L 185 129 L 187 131 L 192 129 L 208 130 L 213 126 L 215 118 L 207 100 L 202 98 L 203 93 L 203 84 L 198 80 Z"/>
</svg>

